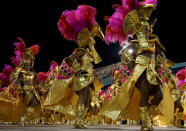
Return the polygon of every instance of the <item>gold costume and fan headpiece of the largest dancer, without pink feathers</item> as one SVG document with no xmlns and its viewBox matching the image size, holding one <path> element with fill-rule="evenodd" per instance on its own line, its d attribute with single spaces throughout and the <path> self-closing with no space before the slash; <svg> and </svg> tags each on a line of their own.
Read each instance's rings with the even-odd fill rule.
<svg viewBox="0 0 186 131">
<path fill-rule="evenodd" d="M 153 10 L 155 5 L 146 5 L 147 10 Z M 129 56 L 129 54 L 122 54 L 121 60 L 124 64 L 130 64 L 134 62 L 135 66 L 133 73 L 130 75 L 121 86 L 121 90 L 117 96 L 114 96 L 111 100 L 107 101 L 101 107 L 101 113 L 106 117 L 113 120 L 117 120 L 120 117 L 124 119 L 139 120 L 143 122 L 142 130 L 151 130 L 149 125 L 150 118 L 152 114 L 159 111 L 164 116 L 164 119 L 170 123 L 174 117 L 174 102 L 170 93 L 170 90 L 166 83 L 164 83 L 159 77 L 156 71 L 156 60 L 155 58 L 150 58 L 148 55 L 143 55 L 146 52 L 156 53 L 156 44 L 158 44 L 162 50 L 164 47 L 158 41 L 156 35 L 152 32 L 148 32 L 151 25 L 148 23 L 149 14 L 152 11 L 143 12 L 146 7 L 140 7 L 139 9 L 132 10 L 128 13 L 124 20 L 124 32 L 129 34 L 132 31 L 134 40 L 129 41 L 130 43 L 136 43 L 135 52 L 136 58 Z M 143 10 L 144 9 L 144 10 Z M 143 14 L 143 15 L 141 15 Z M 152 29 L 151 29 L 152 30 Z M 139 90 L 135 87 L 135 83 L 138 78 L 146 72 L 146 79 L 152 85 L 161 84 L 163 87 L 163 100 L 156 107 L 150 106 L 140 107 L 141 94 Z M 149 102 L 151 99 L 149 98 Z M 140 107 L 140 108 L 139 108 Z"/>
</svg>

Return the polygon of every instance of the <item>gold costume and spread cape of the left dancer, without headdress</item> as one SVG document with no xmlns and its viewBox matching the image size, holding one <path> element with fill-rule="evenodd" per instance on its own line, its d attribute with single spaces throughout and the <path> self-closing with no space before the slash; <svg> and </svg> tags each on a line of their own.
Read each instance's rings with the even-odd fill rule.
<svg viewBox="0 0 186 131">
<path fill-rule="evenodd" d="M 36 91 L 36 85 L 34 85 L 35 77 L 35 72 L 26 71 L 21 67 L 17 67 L 15 72 L 11 74 L 11 84 L 0 93 L 0 106 L 3 107 L 2 115 L 0 115 L 1 120 L 18 123 L 23 115 L 26 115 L 24 117 L 29 120 L 29 115 L 34 113 L 34 108 L 39 103 L 39 94 Z M 28 81 L 33 85 L 24 83 Z M 37 116 L 38 113 L 32 115 L 32 118 Z"/>
</svg>

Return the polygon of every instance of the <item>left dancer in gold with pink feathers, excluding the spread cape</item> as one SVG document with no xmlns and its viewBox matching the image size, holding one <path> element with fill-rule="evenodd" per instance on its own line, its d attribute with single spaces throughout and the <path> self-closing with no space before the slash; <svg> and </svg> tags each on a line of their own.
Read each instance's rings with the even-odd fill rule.
<svg viewBox="0 0 186 131">
<path fill-rule="evenodd" d="M 16 57 L 12 57 L 12 63 L 17 66 L 15 71 L 11 74 L 10 80 L 13 88 L 18 88 L 20 94 L 23 96 L 24 116 L 21 118 L 21 123 L 24 126 L 25 123 L 31 117 L 34 108 L 39 104 L 39 89 L 37 73 L 34 71 L 35 56 L 39 52 L 39 46 L 33 45 L 30 48 L 26 48 L 25 42 L 18 38 L 20 42 L 16 42 L 14 53 Z"/>
</svg>

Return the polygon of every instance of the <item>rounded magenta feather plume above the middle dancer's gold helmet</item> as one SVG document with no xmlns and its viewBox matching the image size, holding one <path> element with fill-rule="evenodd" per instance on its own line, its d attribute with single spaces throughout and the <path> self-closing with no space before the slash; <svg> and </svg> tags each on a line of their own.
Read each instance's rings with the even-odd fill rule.
<svg viewBox="0 0 186 131">
<path fill-rule="evenodd" d="M 76 10 L 64 11 L 58 21 L 58 29 L 67 40 L 76 41 L 77 34 L 84 28 L 89 32 L 94 27 L 96 9 L 88 5 L 80 5 Z"/>
</svg>

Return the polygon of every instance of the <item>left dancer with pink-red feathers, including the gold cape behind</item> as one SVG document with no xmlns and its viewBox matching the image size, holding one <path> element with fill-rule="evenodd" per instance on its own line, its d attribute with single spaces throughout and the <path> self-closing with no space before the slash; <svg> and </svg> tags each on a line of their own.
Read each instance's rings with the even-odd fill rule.
<svg viewBox="0 0 186 131">
<path fill-rule="evenodd" d="M 14 44 L 16 57 L 11 58 L 12 63 L 17 67 L 10 76 L 11 84 L 4 92 L 1 92 L 1 96 L 4 97 L 4 100 L 6 99 L 2 103 L 9 103 L 7 108 L 10 108 L 8 110 L 12 109 L 9 114 L 14 114 L 7 116 L 7 118 L 11 117 L 13 122 L 19 122 L 20 117 L 24 114 L 21 121 L 24 125 L 36 105 L 39 104 L 37 73 L 33 70 L 34 56 L 39 52 L 39 46 L 34 45 L 26 48 L 24 41 L 21 38 L 18 39 L 20 42 Z M 11 108 L 11 106 L 13 107 Z"/>
</svg>

